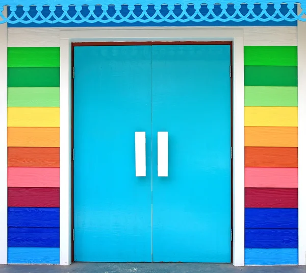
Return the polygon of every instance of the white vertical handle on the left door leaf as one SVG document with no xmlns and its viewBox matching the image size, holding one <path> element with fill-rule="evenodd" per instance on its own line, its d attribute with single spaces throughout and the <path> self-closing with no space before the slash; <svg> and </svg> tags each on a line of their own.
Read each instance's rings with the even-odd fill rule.
<svg viewBox="0 0 306 273">
<path fill-rule="evenodd" d="M 145 165 L 145 132 L 135 132 L 135 166 L 137 177 L 145 177 Z"/>
</svg>

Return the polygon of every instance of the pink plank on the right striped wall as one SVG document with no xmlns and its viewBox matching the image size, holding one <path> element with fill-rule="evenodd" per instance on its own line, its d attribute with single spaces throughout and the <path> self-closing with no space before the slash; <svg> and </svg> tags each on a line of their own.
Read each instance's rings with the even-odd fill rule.
<svg viewBox="0 0 306 273">
<path fill-rule="evenodd" d="M 258 168 L 244 170 L 246 188 L 297 188 L 297 168 Z"/>
</svg>

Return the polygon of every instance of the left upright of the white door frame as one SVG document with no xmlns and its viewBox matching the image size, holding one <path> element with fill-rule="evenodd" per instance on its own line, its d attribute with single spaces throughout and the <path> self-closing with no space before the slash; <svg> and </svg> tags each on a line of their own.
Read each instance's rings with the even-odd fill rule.
<svg viewBox="0 0 306 273">
<path fill-rule="evenodd" d="M 71 44 L 60 41 L 60 264 L 71 264 Z"/>
</svg>

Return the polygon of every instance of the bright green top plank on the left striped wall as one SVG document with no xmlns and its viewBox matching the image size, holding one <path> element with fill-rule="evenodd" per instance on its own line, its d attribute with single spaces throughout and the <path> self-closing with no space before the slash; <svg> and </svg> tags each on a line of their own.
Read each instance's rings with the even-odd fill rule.
<svg viewBox="0 0 306 273">
<path fill-rule="evenodd" d="M 59 47 L 9 47 L 8 67 L 59 67 Z"/>
</svg>

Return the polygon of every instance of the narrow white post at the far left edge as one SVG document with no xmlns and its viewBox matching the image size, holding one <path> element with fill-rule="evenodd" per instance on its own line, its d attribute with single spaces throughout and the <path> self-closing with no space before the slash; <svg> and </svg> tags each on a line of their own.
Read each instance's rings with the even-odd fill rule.
<svg viewBox="0 0 306 273">
<path fill-rule="evenodd" d="M 7 7 L 3 15 L 7 16 Z M 0 20 L 2 20 L 0 18 Z M 0 264 L 8 263 L 8 27 L 0 24 Z"/>
</svg>

